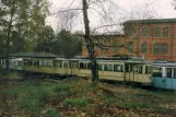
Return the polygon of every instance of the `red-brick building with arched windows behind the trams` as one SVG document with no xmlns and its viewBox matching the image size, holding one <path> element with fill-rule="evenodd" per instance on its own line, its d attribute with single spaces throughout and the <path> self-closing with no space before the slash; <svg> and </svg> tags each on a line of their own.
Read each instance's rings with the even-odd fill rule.
<svg viewBox="0 0 176 117">
<path fill-rule="evenodd" d="M 95 54 L 130 55 L 146 60 L 176 61 L 176 19 L 124 22 L 124 35 L 94 35 Z M 82 56 L 87 56 L 83 44 Z"/>
</svg>

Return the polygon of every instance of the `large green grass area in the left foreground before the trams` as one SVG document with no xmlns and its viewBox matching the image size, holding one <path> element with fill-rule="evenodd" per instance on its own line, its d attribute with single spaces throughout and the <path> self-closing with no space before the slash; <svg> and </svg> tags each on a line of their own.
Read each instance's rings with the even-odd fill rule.
<svg viewBox="0 0 176 117">
<path fill-rule="evenodd" d="M 68 85 L 40 83 L 40 81 L 30 80 L 23 85 L 8 87 L 2 93 L 8 97 L 16 96 L 19 109 L 38 116 L 46 101 L 59 98 L 60 92 L 68 94 L 69 91 L 70 87 Z"/>
</svg>

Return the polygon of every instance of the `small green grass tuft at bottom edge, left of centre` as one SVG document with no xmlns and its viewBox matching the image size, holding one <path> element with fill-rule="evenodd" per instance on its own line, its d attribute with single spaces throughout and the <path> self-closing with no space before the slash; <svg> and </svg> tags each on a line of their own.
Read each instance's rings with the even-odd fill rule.
<svg viewBox="0 0 176 117">
<path fill-rule="evenodd" d="M 60 114 L 54 108 L 47 108 L 47 112 L 44 114 L 43 117 L 61 117 Z"/>
</svg>

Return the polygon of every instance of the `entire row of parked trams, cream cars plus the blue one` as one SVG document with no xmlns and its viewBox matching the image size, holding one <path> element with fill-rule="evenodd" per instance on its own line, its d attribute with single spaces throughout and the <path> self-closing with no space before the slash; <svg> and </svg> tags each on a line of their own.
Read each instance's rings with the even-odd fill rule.
<svg viewBox="0 0 176 117">
<path fill-rule="evenodd" d="M 5 61 L 1 60 L 5 68 Z M 176 90 L 176 63 L 152 62 L 131 58 L 97 58 L 98 79 L 137 82 L 142 85 Z M 78 75 L 91 78 L 89 58 L 15 58 L 10 62 L 13 70 L 49 75 Z"/>
</svg>

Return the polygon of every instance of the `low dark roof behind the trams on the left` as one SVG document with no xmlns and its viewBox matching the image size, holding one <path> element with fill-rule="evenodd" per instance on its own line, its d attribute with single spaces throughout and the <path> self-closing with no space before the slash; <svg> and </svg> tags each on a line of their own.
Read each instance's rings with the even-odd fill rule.
<svg viewBox="0 0 176 117">
<path fill-rule="evenodd" d="M 56 58 L 57 56 L 49 52 L 15 52 L 11 57 L 31 57 L 31 58 Z"/>
</svg>

